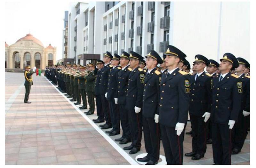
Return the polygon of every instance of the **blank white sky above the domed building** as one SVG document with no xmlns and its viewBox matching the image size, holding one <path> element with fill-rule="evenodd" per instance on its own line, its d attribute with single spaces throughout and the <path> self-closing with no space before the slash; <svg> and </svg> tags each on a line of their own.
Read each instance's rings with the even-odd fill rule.
<svg viewBox="0 0 256 168">
<path fill-rule="evenodd" d="M 62 30 L 64 14 L 68 11 L 68 1 L 21 1 L 5 2 L 5 41 L 14 44 L 29 32 L 44 47 L 50 43 L 57 47 L 56 60 L 62 58 Z"/>
</svg>

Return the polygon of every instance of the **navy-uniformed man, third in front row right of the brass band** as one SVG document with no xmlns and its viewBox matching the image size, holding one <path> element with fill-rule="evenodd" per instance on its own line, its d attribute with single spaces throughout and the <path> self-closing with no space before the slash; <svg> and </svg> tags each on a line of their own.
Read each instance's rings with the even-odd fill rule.
<svg viewBox="0 0 256 168">
<path fill-rule="evenodd" d="M 120 116 L 114 99 L 117 92 L 118 72 L 122 69 L 119 66 L 119 60 L 120 56 L 115 53 L 111 60 L 111 65 L 113 68 L 110 70 L 108 75 L 108 90 L 106 93 L 106 99 L 109 102 L 110 118 L 113 126 L 112 130 L 106 131 L 106 133 L 109 133 L 109 136 L 120 134 Z"/>
</svg>

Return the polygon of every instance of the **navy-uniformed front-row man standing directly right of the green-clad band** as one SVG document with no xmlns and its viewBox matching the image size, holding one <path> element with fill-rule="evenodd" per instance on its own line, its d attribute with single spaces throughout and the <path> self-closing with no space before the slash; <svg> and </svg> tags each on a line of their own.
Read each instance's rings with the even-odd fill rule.
<svg viewBox="0 0 256 168">
<path fill-rule="evenodd" d="M 100 100 L 100 73 L 104 67 L 104 62 L 102 60 L 97 60 L 97 68 L 94 69 L 94 75 L 96 75 L 96 84 L 95 84 L 95 100 L 96 100 L 96 107 L 97 107 L 97 119 L 92 119 L 94 123 L 103 123 L 104 120 L 104 113 L 103 113 L 103 107 Z"/>
</svg>

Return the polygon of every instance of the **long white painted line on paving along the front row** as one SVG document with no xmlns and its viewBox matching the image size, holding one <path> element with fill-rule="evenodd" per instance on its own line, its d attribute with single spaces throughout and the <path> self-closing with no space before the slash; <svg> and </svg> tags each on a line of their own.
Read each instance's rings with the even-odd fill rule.
<svg viewBox="0 0 256 168">
<path fill-rule="evenodd" d="M 50 82 L 45 76 L 44 78 L 50 83 L 52 84 L 52 82 Z M 105 132 L 103 132 L 95 123 L 93 123 L 93 121 L 87 117 L 86 115 L 84 115 L 84 113 L 76 106 L 74 105 L 71 101 L 69 101 L 69 99 L 64 96 L 64 94 L 62 92 L 59 91 L 59 89 L 57 89 L 56 86 L 54 86 L 52 84 L 52 86 L 66 99 L 68 100 L 68 102 L 76 109 L 76 111 L 78 111 L 83 117 L 84 119 L 86 119 L 92 126 L 93 128 L 98 131 L 100 133 L 100 135 L 102 135 L 107 141 L 108 143 L 110 143 L 110 145 L 112 145 L 113 148 L 115 148 L 117 150 L 117 152 L 119 152 L 130 164 L 132 165 L 139 165 L 131 156 L 129 156 L 126 152 L 124 152 L 124 150 L 119 147 L 115 141 L 113 141 L 111 138 L 109 138 L 107 136 L 107 134 L 105 134 Z"/>
</svg>

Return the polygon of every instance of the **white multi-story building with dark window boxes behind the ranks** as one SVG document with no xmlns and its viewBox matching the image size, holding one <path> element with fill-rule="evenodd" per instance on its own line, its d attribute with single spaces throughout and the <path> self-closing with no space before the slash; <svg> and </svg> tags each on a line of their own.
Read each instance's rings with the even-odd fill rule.
<svg viewBox="0 0 256 168">
<path fill-rule="evenodd" d="M 86 64 L 106 51 L 180 48 L 219 60 L 225 52 L 250 60 L 250 4 L 246 2 L 77 2 L 68 12 L 68 58 Z M 239 46 L 239 47 L 238 47 Z"/>
</svg>

